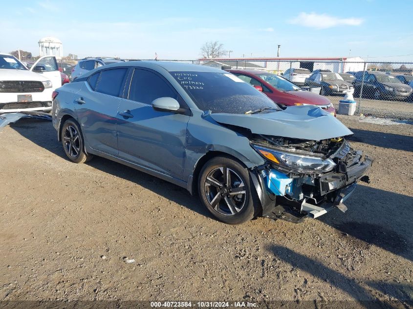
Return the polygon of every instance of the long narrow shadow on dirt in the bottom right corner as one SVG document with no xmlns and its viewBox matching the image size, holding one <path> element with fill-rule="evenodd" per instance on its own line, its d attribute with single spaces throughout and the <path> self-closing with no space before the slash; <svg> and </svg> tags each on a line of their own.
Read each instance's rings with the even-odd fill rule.
<svg viewBox="0 0 413 309">
<path fill-rule="evenodd" d="M 358 301 L 361 300 L 359 302 L 360 306 L 353 307 L 353 306 L 349 306 L 349 304 L 345 304 L 345 303 L 351 303 L 351 302 L 343 302 L 342 304 L 335 304 L 337 308 L 365 307 L 365 308 L 370 309 L 370 308 L 403 308 L 404 307 L 402 304 L 396 301 L 383 303 L 377 300 L 375 295 L 371 295 L 370 288 L 369 289 L 364 288 L 361 284 L 357 283 L 355 280 L 347 277 L 346 275 L 334 269 L 331 269 L 325 266 L 323 263 L 315 259 L 311 259 L 305 255 L 302 255 L 289 248 L 282 247 L 282 246 L 272 245 L 272 246 L 269 246 L 267 249 L 270 253 L 274 254 L 274 256 L 277 259 L 280 259 L 284 263 L 287 263 L 294 268 L 299 268 L 302 271 L 305 271 L 322 281 L 328 282 L 331 286 L 341 289 L 342 291 L 346 292 L 348 295 L 350 295 L 355 300 L 358 300 Z M 395 286 L 395 285 L 389 285 L 387 283 L 381 283 L 381 282 L 367 282 L 366 284 L 371 288 L 375 288 L 379 290 L 381 293 L 390 294 L 392 296 L 394 295 L 395 299 L 412 304 L 411 298 L 409 297 L 408 292 L 404 291 L 404 289 L 407 289 L 407 287 L 405 286 Z M 348 307 L 344 305 L 347 305 Z M 319 308 L 319 307 L 315 306 L 315 308 Z M 323 308 L 323 306 L 320 308 Z M 332 307 L 327 306 L 327 308 L 332 308 Z"/>
</svg>

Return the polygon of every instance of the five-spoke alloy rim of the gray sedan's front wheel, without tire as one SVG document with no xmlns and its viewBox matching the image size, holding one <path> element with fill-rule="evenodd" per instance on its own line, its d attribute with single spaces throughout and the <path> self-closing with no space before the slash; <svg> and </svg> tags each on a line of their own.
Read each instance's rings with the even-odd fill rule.
<svg viewBox="0 0 413 309">
<path fill-rule="evenodd" d="M 239 213 L 246 203 L 246 186 L 242 178 L 225 166 L 209 172 L 204 192 L 211 207 L 226 216 Z"/>
</svg>

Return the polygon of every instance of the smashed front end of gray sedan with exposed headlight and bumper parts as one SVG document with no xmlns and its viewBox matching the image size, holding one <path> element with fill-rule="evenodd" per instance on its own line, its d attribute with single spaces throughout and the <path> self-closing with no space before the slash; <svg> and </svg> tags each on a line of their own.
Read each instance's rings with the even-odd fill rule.
<svg viewBox="0 0 413 309">
<path fill-rule="evenodd" d="M 334 207 L 345 212 L 346 199 L 372 161 L 344 138 L 308 141 L 253 134 L 251 146 L 266 159 L 254 169 L 262 216 L 299 223 Z"/>
</svg>

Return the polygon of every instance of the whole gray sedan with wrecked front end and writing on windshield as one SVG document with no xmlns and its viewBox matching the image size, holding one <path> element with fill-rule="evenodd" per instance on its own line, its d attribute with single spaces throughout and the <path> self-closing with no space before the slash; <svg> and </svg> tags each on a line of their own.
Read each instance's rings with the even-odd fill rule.
<svg viewBox="0 0 413 309">
<path fill-rule="evenodd" d="M 124 62 L 54 93 L 67 157 L 93 155 L 198 193 L 220 221 L 300 222 L 338 207 L 371 166 L 344 124 L 312 105 L 281 109 L 238 77 L 207 66 Z"/>
</svg>

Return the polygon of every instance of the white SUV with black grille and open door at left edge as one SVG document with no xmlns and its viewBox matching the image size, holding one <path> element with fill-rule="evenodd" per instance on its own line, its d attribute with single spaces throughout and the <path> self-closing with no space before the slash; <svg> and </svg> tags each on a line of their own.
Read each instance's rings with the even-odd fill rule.
<svg viewBox="0 0 413 309">
<path fill-rule="evenodd" d="M 0 53 L 0 114 L 49 111 L 52 93 L 60 86 L 55 57 L 41 57 L 29 70 L 14 56 Z"/>
</svg>

